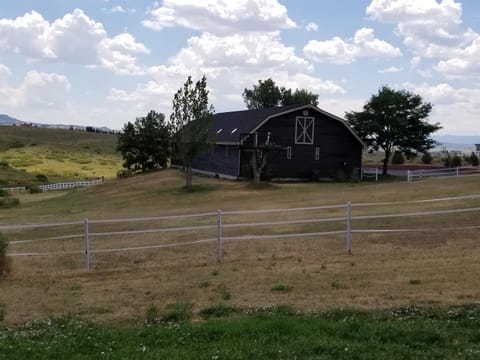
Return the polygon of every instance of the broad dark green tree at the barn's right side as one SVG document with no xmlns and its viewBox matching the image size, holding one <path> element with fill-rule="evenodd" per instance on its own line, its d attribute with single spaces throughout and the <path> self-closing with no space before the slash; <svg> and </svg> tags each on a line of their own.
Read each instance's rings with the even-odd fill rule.
<svg viewBox="0 0 480 360">
<path fill-rule="evenodd" d="M 423 102 L 420 95 L 383 86 L 363 106 L 363 111 L 347 112 L 345 116 L 370 150 L 385 152 L 386 175 L 393 151 L 401 151 L 408 158 L 436 144 L 429 136 L 441 127 L 424 120 L 431 111 L 432 104 Z"/>
</svg>

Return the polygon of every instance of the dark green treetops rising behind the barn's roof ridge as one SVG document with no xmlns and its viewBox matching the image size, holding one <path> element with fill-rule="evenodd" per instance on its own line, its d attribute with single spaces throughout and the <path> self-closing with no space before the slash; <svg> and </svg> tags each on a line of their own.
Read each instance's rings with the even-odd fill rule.
<svg viewBox="0 0 480 360">
<path fill-rule="evenodd" d="M 258 85 L 253 85 L 253 89 L 245 89 L 242 96 L 250 110 L 293 104 L 318 105 L 318 95 L 305 89 L 292 92 L 292 89 L 279 88 L 271 78 L 259 80 Z"/>
</svg>

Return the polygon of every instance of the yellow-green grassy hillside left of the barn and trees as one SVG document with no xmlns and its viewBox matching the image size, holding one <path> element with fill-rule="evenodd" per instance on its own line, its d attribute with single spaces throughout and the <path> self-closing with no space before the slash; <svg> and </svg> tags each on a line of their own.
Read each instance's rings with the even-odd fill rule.
<svg viewBox="0 0 480 360">
<path fill-rule="evenodd" d="M 117 136 L 112 134 L 0 126 L 0 163 L 11 168 L 9 174 L 0 171 L 0 183 L 23 185 L 31 181 L 28 174 L 52 180 L 114 177 L 122 164 L 116 143 Z M 20 183 L 12 184 L 12 179 Z"/>
</svg>

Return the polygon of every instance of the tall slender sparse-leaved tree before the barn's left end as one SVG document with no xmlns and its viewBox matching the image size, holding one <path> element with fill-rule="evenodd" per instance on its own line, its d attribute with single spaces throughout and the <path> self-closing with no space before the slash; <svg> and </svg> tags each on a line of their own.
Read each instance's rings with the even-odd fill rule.
<svg viewBox="0 0 480 360">
<path fill-rule="evenodd" d="M 175 156 L 186 168 L 185 185 L 192 187 L 192 163 L 209 145 L 213 107 L 208 106 L 207 78 L 193 84 L 189 76 L 173 98 L 170 121 L 173 126 Z"/>
</svg>

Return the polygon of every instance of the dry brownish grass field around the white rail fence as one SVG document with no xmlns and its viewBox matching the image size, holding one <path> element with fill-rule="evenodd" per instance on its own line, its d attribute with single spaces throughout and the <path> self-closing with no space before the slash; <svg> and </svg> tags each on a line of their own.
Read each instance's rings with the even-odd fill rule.
<svg viewBox="0 0 480 360">
<path fill-rule="evenodd" d="M 0 213 L 1 224 L 128 218 L 222 210 L 260 209 L 358 202 L 402 201 L 478 193 L 478 178 L 395 184 L 281 184 L 252 190 L 243 183 L 196 179 L 199 191 L 184 193 L 174 171 L 150 174 L 54 198 L 32 195 L 20 208 Z M 38 199 L 35 201 L 35 199 Z M 354 215 L 403 213 L 478 207 L 479 199 L 398 207 L 354 208 Z M 42 210 L 42 211 L 41 211 Z M 250 221 L 343 216 L 344 209 L 308 213 L 226 215 L 225 224 Z M 215 217 L 188 220 L 214 224 Z M 90 231 L 179 226 L 178 221 L 91 224 Z M 185 225 L 185 223 L 183 224 Z M 232 305 L 291 304 L 302 309 L 385 308 L 415 303 L 450 305 L 480 300 L 480 247 L 476 230 L 449 227 L 478 224 L 478 212 L 431 217 L 355 220 L 359 228 L 442 228 L 444 231 L 354 234 L 353 254 L 345 236 L 225 241 L 221 263 L 215 243 L 93 253 L 92 269 L 83 270 L 82 238 L 12 245 L 11 252 L 77 251 L 78 255 L 15 257 L 12 273 L 0 282 L 6 321 L 21 323 L 51 314 L 73 313 L 96 320 L 142 316 L 150 305 L 192 302 L 194 310 L 227 301 Z M 324 231 L 344 223 L 315 223 L 259 228 L 229 228 L 224 236 Z M 9 231 L 10 240 L 80 234 L 81 225 L 59 229 Z M 92 237 L 91 249 L 170 244 L 215 237 L 215 231 Z M 283 284 L 288 292 L 271 291 Z M 225 294 L 229 299 L 225 299 Z"/>
</svg>

